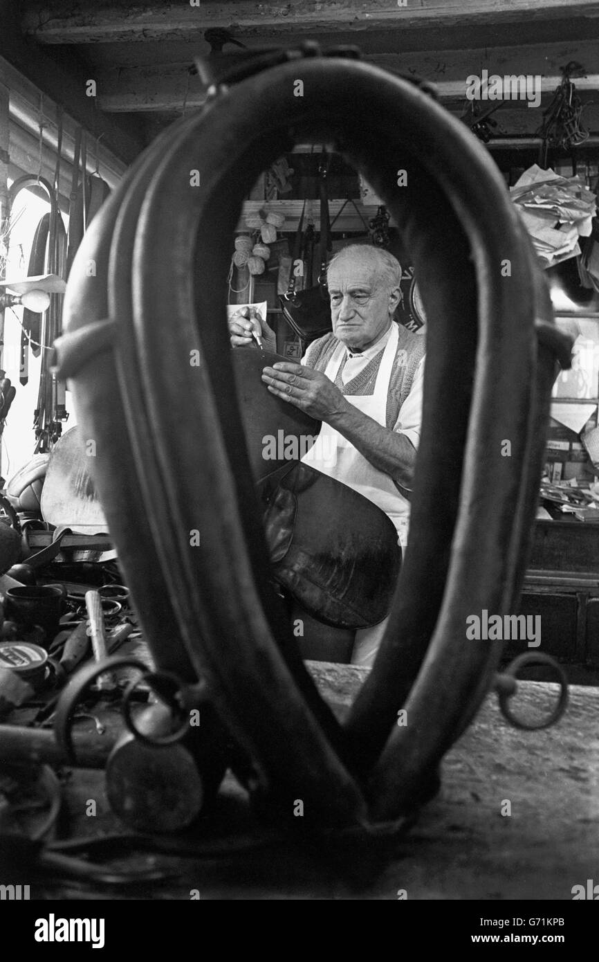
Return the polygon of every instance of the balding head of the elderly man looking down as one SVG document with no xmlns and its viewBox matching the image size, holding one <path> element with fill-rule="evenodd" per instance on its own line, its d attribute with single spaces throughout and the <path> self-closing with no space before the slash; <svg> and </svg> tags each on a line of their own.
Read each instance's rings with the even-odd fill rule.
<svg viewBox="0 0 599 962">
<path fill-rule="evenodd" d="M 328 274 L 333 333 L 350 350 L 361 351 L 388 327 L 398 291 L 390 291 L 374 258 L 347 254 Z"/>
</svg>

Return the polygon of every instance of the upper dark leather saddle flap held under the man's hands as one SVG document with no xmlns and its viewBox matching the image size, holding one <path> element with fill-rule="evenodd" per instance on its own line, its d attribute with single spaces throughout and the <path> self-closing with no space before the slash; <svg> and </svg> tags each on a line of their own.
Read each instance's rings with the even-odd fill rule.
<svg viewBox="0 0 599 962">
<path fill-rule="evenodd" d="M 299 461 L 312 447 L 320 421 L 276 397 L 262 382 L 262 368 L 286 358 L 257 346 L 235 348 L 232 360 L 250 466 L 259 482 L 289 462 Z"/>
</svg>

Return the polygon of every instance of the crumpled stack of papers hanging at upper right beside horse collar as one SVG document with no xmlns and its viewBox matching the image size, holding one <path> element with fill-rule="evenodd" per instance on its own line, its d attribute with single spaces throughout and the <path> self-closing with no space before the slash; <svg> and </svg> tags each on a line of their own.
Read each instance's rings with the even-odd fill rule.
<svg viewBox="0 0 599 962">
<path fill-rule="evenodd" d="M 590 235 L 597 211 L 596 194 L 581 177 L 561 177 L 534 164 L 510 192 L 544 267 L 580 254 L 578 239 Z"/>
</svg>

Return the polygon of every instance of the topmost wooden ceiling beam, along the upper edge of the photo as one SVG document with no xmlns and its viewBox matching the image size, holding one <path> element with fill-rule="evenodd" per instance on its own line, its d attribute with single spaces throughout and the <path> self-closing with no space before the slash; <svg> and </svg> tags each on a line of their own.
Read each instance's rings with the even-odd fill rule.
<svg viewBox="0 0 599 962">
<path fill-rule="evenodd" d="M 31 0 L 22 26 L 38 43 L 132 42 L 151 39 L 196 40 L 209 27 L 231 29 L 237 38 L 268 36 L 300 39 L 313 34 L 360 35 L 375 30 L 496 25 L 586 18 L 599 15 L 598 0 L 340 0 L 335 4 L 296 0 L 292 4 L 238 0 L 216 3 L 112 4 L 102 0 Z M 334 38 L 333 38 L 334 39 Z"/>
</svg>

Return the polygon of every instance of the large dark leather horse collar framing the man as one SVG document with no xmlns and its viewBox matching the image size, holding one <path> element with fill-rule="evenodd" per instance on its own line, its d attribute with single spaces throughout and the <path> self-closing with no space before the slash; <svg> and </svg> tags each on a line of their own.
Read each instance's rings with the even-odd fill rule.
<svg viewBox="0 0 599 962">
<path fill-rule="evenodd" d="M 484 147 L 407 80 L 309 52 L 214 87 L 138 159 L 75 258 L 57 354 L 97 442 L 97 488 L 159 667 L 205 679 L 282 823 L 362 838 L 413 812 L 490 687 L 501 645 L 468 643 L 466 619 L 517 603 L 569 342 Z M 428 327 L 411 546 L 343 725 L 270 585 L 223 293 L 243 198 L 306 139 L 333 141 L 383 198 Z M 307 817 L 294 820 L 297 798 Z"/>
</svg>

